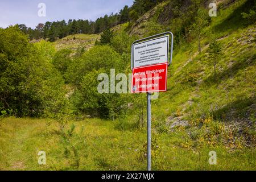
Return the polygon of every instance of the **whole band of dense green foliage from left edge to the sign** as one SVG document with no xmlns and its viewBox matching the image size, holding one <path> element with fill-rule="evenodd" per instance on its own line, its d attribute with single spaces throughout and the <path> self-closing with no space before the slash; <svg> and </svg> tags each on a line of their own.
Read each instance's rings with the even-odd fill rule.
<svg viewBox="0 0 256 182">
<path fill-rule="evenodd" d="M 63 119 L 73 111 L 113 119 L 125 113 L 128 96 L 100 94 L 97 90 L 98 75 L 106 73 L 110 80 L 110 69 L 115 68 L 117 75 L 129 67 L 125 52 L 132 40 L 116 46 L 117 41 L 127 37 L 125 33 L 113 35 L 108 45 L 72 56 L 70 49 L 55 51 L 45 41 L 29 43 L 17 26 L 0 31 L 1 111 L 16 117 L 55 119 Z M 64 84 L 75 88 L 71 98 L 67 96 L 71 90 Z"/>
</svg>

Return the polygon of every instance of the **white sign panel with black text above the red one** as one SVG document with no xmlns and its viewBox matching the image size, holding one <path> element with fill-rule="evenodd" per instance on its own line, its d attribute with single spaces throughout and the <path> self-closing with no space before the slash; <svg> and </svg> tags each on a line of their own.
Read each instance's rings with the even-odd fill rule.
<svg viewBox="0 0 256 182">
<path fill-rule="evenodd" d="M 169 36 L 147 40 L 133 46 L 133 68 L 168 62 Z"/>
</svg>

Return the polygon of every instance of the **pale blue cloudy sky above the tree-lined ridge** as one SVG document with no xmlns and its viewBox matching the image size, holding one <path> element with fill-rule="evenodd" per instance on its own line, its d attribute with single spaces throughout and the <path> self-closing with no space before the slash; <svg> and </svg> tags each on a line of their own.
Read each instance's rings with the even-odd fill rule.
<svg viewBox="0 0 256 182">
<path fill-rule="evenodd" d="M 46 16 L 42 16 L 40 3 L 46 5 Z M 47 21 L 96 20 L 112 12 L 119 13 L 125 5 L 132 4 L 133 0 L 0 0 L 0 27 L 26 24 L 35 28 L 38 23 Z"/>
</svg>

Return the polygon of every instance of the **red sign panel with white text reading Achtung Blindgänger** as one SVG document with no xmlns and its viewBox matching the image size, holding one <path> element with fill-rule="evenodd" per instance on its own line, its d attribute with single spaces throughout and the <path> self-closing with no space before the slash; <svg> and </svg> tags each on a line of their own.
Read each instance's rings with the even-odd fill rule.
<svg viewBox="0 0 256 182">
<path fill-rule="evenodd" d="M 133 69 L 131 93 L 166 92 L 168 63 Z"/>
</svg>

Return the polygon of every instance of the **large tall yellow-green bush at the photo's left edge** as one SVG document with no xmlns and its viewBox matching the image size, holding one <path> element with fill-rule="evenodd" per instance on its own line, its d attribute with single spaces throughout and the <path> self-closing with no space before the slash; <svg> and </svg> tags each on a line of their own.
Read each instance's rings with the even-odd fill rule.
<svg viewBox="0 0 256 182">
<path fill-rule="evenodd" d="M 22 50 L 22 51 L 20 51 Z M 63 79 L 48 53 L 28 42 L 18 27 L 0 29 L 0 101 L 16 117 L 38 117 L 63 100 Z"/>
</svg>

